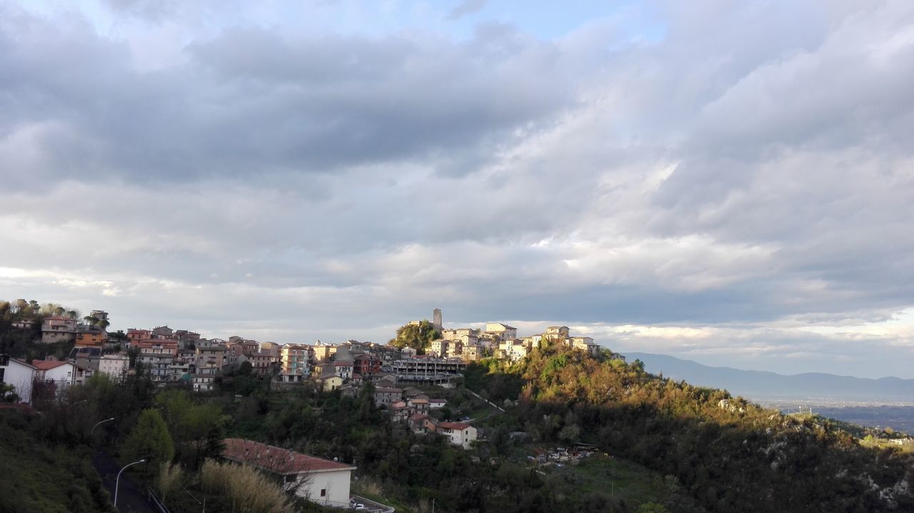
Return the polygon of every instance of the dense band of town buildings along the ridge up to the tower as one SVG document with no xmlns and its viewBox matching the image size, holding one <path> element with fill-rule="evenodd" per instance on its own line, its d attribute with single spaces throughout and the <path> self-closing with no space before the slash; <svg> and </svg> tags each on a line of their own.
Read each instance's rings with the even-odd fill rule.
<svg viewBox="0 0 914 513">
<path fill-rule="evenodd" d="M 313 381 L 327 391 L 354 393 L 363 382 L 453 387 L 467 362 L 484 358 L 523 360 L 544 340 L 560 341 L 591 355 L 600 352 L 600 345 L 592 338 L 572 336 L 567 326 L 550 326 L 543 333 L 518 338 L 516 328 L 499 322 L 486 323 L 480 329 L 444 328 L 440 309 L 433 310 L 430 323 L 413 320 L 407 326 L 422 323 L 430 324 L 436 337 L 417 350 L 358 340 L 279 344 L 238 335 L 228 340 L 207 339 L 195 331 L 168 326 L 109 333 L 109 313 L 92 310 L 84 319 L 68 315 L 16 319 L 13 328 L 21 330 L 23 337 L 43 344 L 72 343 L 72 349 L 62 360 L 49 356 L 41 361 L 14 361 L 34 368 L 36 375 L 60 386 L 85 382 L 94 372 L 120 380 L 140 365 L 154 383 L 184 383 L 194 392 L 209 392 L 218 376 L 247 364 L 254 375 L 269 376 L 277 386 Z M 8 372 L 16 376 L 21 373 Z M 18 387 L 16 393 L 28 402 L 27 387 Z M 390 403 L 388 395 L 379 397 L 378 403 Z"/>
</svg>

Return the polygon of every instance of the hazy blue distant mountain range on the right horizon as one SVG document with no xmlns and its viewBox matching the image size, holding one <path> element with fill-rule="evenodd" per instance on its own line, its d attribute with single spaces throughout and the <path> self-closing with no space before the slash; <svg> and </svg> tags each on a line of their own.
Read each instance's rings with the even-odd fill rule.
<svg viewBox="0 0 914 513">
<path fill-rule="evenodd" d="M 644 369 L 676 381 L 727 389 L 756 402 L 800 401 L 811 403 L 914 403 L 914 380 L 880 378 L 871 380 L 821 372 L 783 375 L 775 372 L 741 371 L 709 367 L 695 361 L 664 354 L 629 352 L 631 362 L 644 362 Z"/>
</svg>

